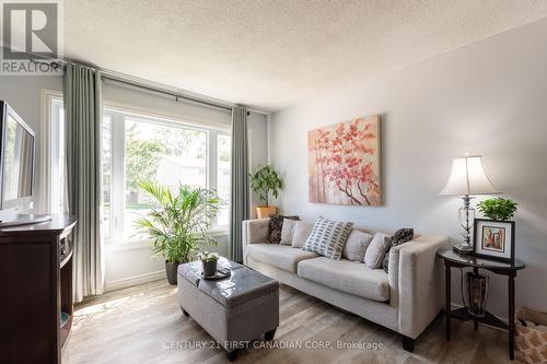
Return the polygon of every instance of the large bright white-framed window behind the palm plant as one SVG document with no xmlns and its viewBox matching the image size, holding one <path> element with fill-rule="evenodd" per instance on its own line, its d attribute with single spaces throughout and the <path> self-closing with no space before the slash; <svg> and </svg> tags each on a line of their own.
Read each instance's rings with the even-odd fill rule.
<svg viewBox="0 0 547 364">
<path fill-rule="evenodd" d="M 221 212 L 213 230 L 229 222 L 230 137 L 151 115 L 106 108 L 103 122 L 103 224 L 110 242 L 144 238 L 135 222 L 154 201 L 139 188 L 153 180 L 176 191 L 181 184 L 218 191 Z"/>
</svg>

